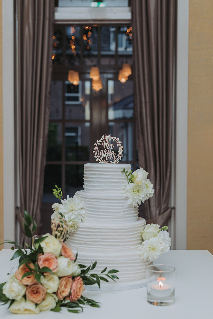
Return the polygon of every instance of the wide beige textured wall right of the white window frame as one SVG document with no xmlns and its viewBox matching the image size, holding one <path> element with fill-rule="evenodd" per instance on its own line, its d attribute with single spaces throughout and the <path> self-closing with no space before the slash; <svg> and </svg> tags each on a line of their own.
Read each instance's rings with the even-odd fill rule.
<svg viewBox="0 0 213 319">
<path fill-rule="evenodd" d="M 189 0 L 187 249 L 213 253 L 212 0 Z"/>
</svg>

